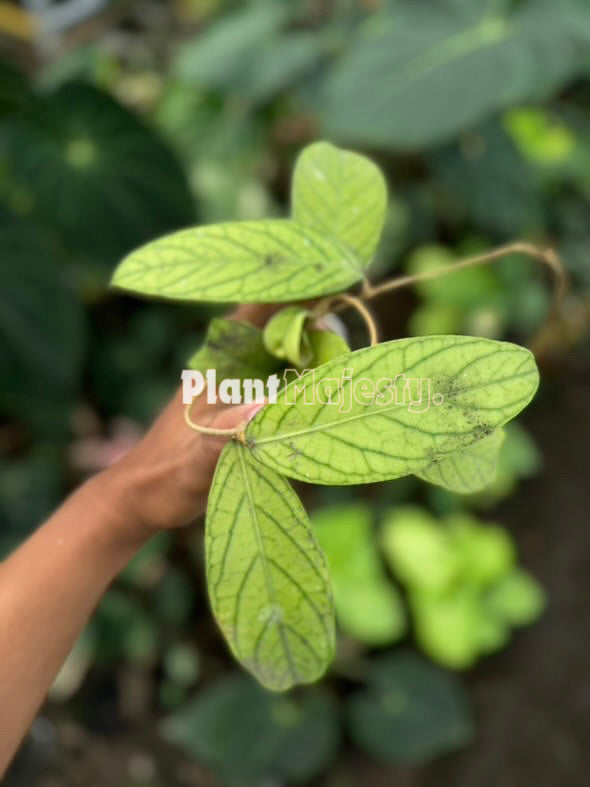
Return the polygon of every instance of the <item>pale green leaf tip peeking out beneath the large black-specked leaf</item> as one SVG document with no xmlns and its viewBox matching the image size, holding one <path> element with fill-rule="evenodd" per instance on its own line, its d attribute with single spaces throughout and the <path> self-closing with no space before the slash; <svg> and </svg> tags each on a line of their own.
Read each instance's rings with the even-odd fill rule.
<svg viewBox="0 0 590 787">
<path fill-rule="evenodd" d="M 503 429 L 496 429 L 461 451 L 456 451 L 445 459 L 435 460 L 416 475 L 423 481 L 443 486 L 461 495 L 485 489 L 496 478 L 498 456 L 504 436 Z"/>
</svg>

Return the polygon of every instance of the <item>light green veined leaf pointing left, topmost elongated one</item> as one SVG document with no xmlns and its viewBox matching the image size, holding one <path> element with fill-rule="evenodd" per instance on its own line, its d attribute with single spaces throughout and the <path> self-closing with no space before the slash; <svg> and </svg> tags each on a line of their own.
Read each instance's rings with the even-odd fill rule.
<svg viewBox="0 0 590 787">
<path fill-rule="evenodd" d="M 284 219 L 182 230 L 130 254 L 113 284 L 192 301 L 269 303 L 313 298 L 361 278 L 353 253 Z"/>
</svg>

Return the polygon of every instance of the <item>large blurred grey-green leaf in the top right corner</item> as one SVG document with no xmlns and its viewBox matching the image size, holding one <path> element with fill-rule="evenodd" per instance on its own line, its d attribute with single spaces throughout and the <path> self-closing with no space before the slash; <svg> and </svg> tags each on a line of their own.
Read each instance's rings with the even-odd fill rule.
<svg viewBox="0 0 590 787">
<path fill-rule="evenodd" d="M 359 27 L 320 87 L 324 134 L 424 148 L 491 113 L 558 89 L 584 69 L 590 13 L 576 0 L 531 0 L 476 17 L 394 0 Z M 461 7 L 463 6 L 463 8 Z"/>
</svg>

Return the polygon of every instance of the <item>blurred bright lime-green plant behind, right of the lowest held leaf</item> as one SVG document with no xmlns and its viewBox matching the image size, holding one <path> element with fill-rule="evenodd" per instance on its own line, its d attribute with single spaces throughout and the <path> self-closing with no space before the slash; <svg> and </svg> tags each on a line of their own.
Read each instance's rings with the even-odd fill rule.
<svg viewBox="0 0 590 787">
<path fill-rule="evenodd" d="M 466 512 L 436 519 L 406 504 L 384 512 L 375 529 L 371 508 L 354 504 L 318 509 L 312 521 L 340 628 L 365 645 L 397 642 L 409 618 L 430 658 L 465 669 L 543 609 L 543 591 L 516 565 L 508 532 Z"/>
</svg>

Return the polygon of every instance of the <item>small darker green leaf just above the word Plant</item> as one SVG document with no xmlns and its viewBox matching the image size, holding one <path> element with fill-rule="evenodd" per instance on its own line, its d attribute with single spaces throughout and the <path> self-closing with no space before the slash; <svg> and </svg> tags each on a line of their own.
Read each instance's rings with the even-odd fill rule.
<svg viewBox="0 0 590 787">
<path fill-rule="evenodd" d="M 264 347 L 259 328 L 217 317 L 209 323 L 205 342 L 188 361 L 188 367 L 202 374 L 216 369 L 219 380 L 265 379 L 277 371 L 279 362 Z"/>
</svg>

